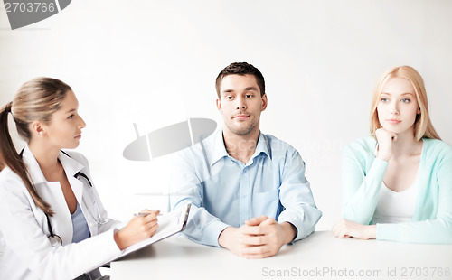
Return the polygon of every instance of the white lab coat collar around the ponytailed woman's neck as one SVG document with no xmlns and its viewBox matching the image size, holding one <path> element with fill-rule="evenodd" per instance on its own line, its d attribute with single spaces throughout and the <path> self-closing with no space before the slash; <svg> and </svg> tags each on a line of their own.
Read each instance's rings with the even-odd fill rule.
<svg viewBox="0 0 452 280">
<path fill-rule="evenodd" d="M 22 159 L 24 160 L 24 163 L 28 167 L 28 173 L 30 173 L 33 184 L 47 182 L 47 180 L 44 177 L 44 174 L 41 171 L 39 163 L 34 158 L 34 155 L 32 154 L 32 151 L 30 151 L 28 145 L 25 145 L 24 147 Z M 76 173 L 80 172 L 80 170 L 83 169 L 84 167 L 81 163 L 75 161 L 69 155 L 64 154 L 61 151 L 60 154 L 58 154 L 58 159 L 60 160 L 62 168 L 64 169 L 64 172 L 68 177 L 74 176 Z"/>
</svg>

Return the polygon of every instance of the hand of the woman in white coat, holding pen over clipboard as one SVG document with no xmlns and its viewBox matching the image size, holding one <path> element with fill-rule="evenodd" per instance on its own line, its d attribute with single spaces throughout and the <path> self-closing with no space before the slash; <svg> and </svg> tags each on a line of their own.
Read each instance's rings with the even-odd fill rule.
<svg viewBox="0 0 452 280">
<path fill-rule="evenodd" d="M 157 215 L 160 211 L 143 210 L 140 214 L 146 216 L 134 216 L 127 226 L 115 233 L 115 241 L 119 249 L 136 244 L 139 241 L 152 237 L 158 228 Z"/>
</svg>

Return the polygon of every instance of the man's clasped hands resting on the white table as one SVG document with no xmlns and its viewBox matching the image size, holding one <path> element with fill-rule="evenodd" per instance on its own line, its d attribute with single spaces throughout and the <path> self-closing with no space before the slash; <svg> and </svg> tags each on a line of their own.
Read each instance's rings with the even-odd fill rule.
<svg viewBox="0 0 452 280">
<path fill-rule="evenodd" d="M 266 216 L 250 219 L 240 228 L 229 227 L 221 232 L 218 243 L 233 254 L 246 258 L 275 256 L 291 242 L 297 229 L 287 222 L 278 223 Z"/>
</svg>

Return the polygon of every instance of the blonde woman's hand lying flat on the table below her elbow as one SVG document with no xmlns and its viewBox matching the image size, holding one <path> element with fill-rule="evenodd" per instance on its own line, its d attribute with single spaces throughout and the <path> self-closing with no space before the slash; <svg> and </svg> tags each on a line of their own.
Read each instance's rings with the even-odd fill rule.
<svg viewBox="0 0 452 280">
<path fill-rule="evenodd" d="M 375 239 L 377 238 L 376 225 L 362 225 L 348 219 L 341 219 L 332 229 L 336 238 L 358 238 Z"/>
</svg>

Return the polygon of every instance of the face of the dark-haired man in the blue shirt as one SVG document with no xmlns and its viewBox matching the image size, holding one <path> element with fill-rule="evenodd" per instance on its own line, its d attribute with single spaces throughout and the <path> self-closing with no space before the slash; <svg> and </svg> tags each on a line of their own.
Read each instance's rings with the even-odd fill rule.
<svg viewBox="0 0 452 280">
<path fill-rule="evenodd" d="M 225 130 L 235 135 L 249 135 L 259 130 L 260 112 L 267 107 L 267 95 L 260 96 L 253 75 L 228 75 L 221 81 L 217 107 Z"/>
</svg>

